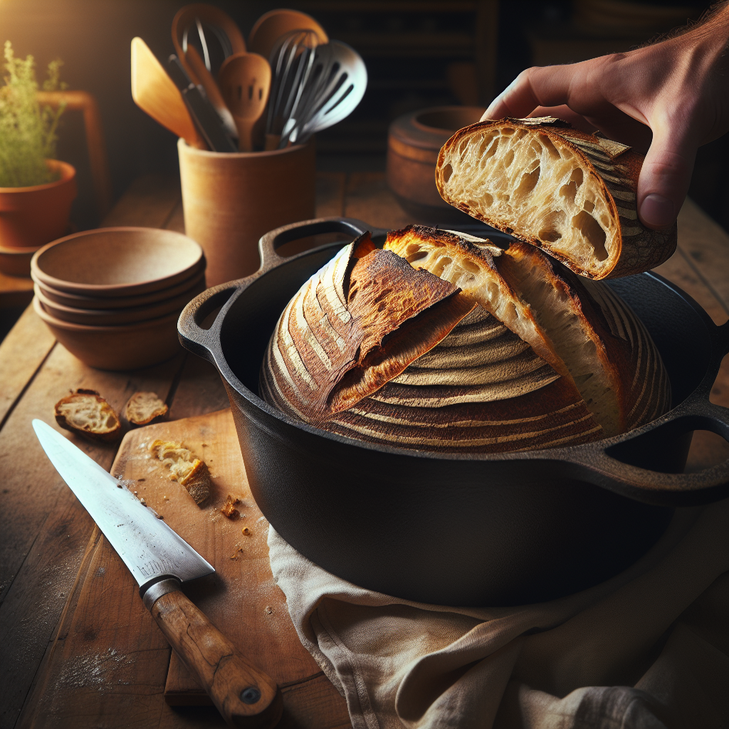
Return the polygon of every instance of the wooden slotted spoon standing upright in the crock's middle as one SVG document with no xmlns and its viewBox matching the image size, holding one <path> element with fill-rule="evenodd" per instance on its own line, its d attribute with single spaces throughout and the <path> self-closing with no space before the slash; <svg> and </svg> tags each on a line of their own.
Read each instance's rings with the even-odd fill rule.
<svg viewBox="0 0 729 729">
<path fill-rule="evenodd" d="M 266 108 L 270 91 L 268 61 L 257 53 L 236 53 L 220 66 L 218 81 L 238 128 L 238 148 L 241 152 L 252 152 L 253 126 Z"/>
</svg>

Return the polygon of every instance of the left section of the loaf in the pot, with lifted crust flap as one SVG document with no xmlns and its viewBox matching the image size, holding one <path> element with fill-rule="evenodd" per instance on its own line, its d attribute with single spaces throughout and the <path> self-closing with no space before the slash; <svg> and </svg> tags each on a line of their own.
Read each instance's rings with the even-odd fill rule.
<svg viewBox="0 0 729 729">
<path fill-rule="evenodd" d="M 315 274 L 278 321 L 262 389 L 321 424 L 379 389 L 453 329 L 474 303 L 363 235 Z"/>
</svg>

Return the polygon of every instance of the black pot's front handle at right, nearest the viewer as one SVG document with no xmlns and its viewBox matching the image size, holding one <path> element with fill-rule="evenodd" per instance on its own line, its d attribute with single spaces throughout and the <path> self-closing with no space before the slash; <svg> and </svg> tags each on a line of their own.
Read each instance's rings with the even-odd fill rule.
<svg viewBox="0 0 729 729">
<path fill-rule="evenodd" d="M 636 461 L 650 462 L 652 450 L 658 450 L 666 439 L 695 430 L 709 430 L 729 441 L 729 408 L 709 401 L 722 357 L 729 353 L 729 321 L 714 327 L 713 335 L 715 367 L 693 394 L 665 416 L 607 443 L 566 449 L 561 460 L 572 465 L 574 475 L 631 499 L 663 506 L 706 504 L 729 495 L 729 459 L 698 473 L 670 473 L 635 465 Z"/>
</svg>

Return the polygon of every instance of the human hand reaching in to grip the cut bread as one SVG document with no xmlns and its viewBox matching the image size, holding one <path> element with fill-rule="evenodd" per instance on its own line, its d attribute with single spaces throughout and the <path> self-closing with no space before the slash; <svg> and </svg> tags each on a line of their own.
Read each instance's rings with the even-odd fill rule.
<svg viewBox="0 0 729 729">
<path fill-rule="evenodd" d="M 680 36 L 569 66 L 522 71 L 482 119 L 554 116 L 646 152 L 638 214 L 673 225 L 696 150 L 729 130 L 729 5 Z"/>
</svg>

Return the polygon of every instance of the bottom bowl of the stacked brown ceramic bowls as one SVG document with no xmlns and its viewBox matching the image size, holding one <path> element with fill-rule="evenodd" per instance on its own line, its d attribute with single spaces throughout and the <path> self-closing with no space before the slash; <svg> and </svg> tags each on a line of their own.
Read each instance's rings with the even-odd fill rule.
<svg viewBox="0 0 729 729">
<path fill-rule="evenodd" d="M 179 311 L 159 319 L 112 327 L 87 327 L 51 316 L 37 298 L 33 308 L 53 336 L 82 362 L 99 370 L 138 370 L 164 362 L 180 351 Z"/>
</svg>

